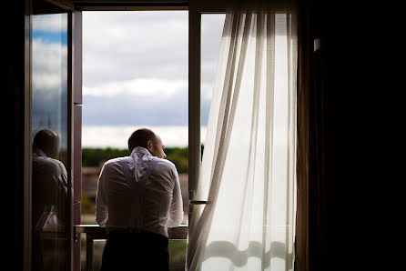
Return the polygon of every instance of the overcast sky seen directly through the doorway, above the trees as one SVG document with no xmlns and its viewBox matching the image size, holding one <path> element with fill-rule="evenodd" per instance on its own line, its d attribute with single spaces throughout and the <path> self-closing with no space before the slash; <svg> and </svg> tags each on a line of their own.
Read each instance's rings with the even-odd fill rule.
<svg viewBox="0 0 406 271">
<path fill-rule="evenodd" d="M 224 18 L 202 17 L 203 126 Z M 83 145 L 126 146 L 138 126 L 188 145 L 188 11 L 84 12 Z"/>
</svg>

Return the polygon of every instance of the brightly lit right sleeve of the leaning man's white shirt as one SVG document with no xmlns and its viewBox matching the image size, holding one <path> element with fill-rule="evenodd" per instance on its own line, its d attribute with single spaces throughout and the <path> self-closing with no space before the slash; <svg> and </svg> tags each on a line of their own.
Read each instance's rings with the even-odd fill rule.
<svg viewBox="0 0 406 271">
<path fill-rule="evenodd" d="M 169 216 L 167 218 L 167 227 L 176 227 L 182 223 L 183 220 L 183 201 L 182 193 L 180 191 L 180 182 L 177 170 L 172 170 L 172 176 L 175 179 L 173 187 L 172 203 L 169 207 Z"/>
</svg>

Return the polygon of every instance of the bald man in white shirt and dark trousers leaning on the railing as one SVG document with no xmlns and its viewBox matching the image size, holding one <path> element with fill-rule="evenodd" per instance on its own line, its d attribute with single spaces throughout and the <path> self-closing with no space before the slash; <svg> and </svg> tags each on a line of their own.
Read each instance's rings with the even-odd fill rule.
<svg viewBox="0 0 406 271">
<path fill-rule="evenodd" d="M 167 227 L 183 219 L 178 171 L 147 128 L 128 138 L 128 150 L 105 163 L 97 183 L 96 221 L 107 229 L 101 270 L 169 270 Z"/>
</svg>

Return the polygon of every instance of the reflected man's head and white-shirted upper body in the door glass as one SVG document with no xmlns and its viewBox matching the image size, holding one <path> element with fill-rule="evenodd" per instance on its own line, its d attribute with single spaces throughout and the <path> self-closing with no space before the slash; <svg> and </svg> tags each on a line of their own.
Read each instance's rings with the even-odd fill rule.
<svg viewBox="0 0 406 271">
<path fill-rule="evenodd" d="M 33 222 L 36 232 L 60 230 L 65 225 L 67 173 L 56 160 L 59 135 L 40 130 L 33 141 Z"/>
</svg>

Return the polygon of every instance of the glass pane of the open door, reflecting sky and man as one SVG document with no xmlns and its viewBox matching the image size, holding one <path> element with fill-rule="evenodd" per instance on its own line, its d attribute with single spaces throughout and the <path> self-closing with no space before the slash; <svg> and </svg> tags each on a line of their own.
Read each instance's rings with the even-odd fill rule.
<svg viewBox="0 0 406 271">
<path fill-rule="evenodd" d="M 32 50 L 33 266 L 66 270 L 66 14 L 33 16 Z"/>
</svg>

